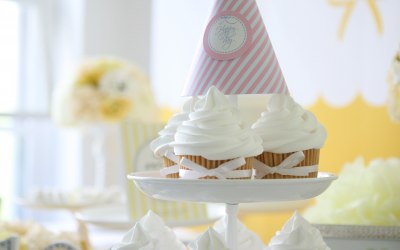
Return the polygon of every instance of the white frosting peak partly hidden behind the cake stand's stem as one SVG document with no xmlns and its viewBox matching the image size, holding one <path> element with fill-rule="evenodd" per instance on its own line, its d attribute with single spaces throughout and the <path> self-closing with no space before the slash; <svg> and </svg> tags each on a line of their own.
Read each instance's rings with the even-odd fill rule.
<svg viewBox="0 0 400 250">
<path fill-rule="evenodd" d="M 239 220 L 237 220 L 237 242 L 240 250 L 263 250 L 264 244 L 254 232 L 248 230 Z M 214 224 L 214 230 L 220 237 L 225 239 L 227 229 L 227 216 L 222 217 Z M 207 249 L 208 250 L 208 249 Z M 210 249 L 211 250 L 211 249 Z"/>
</svg>

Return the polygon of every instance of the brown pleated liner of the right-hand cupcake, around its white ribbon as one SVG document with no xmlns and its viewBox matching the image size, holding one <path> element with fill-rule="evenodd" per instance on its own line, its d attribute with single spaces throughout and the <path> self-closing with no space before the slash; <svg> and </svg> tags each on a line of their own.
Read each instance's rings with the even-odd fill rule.
<svg viewBox="0 0 400 250">
<path fill-rule="evenodd" d="M 263 152 L 261 155 L 256 156 L 256 159 L 263 162 L 264 164 L 275 167 L 278 166 L 283 160 L 289 157 L 291 153 L 271 153 L 271 152 Z M 320 149 L 308 149 L 303 150 L 304 160 L 297 164 L 295 167 L 303 167 L 303 166 L 312 166 L 317 165 L 319 163 L 319 153 Z M 263 179 L 301 179 L 301 178 L 315 178 L 318 176 L 318 171 L 310 173 L 308 176 L 294 176 L 294 175 L 281 175 L 278 173 L 267 174 L 263 177 Z"/>
</svg>

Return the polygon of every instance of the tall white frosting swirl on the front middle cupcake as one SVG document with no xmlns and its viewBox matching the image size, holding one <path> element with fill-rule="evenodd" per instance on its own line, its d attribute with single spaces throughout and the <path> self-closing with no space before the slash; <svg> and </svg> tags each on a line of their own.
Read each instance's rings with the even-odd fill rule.
<svg viewBox="0 0 400 250">
<path fill-rule="evenodd" d="M 226 96 L 211 87 L 180 125 L 171 144 L 176 155 L 199 155 L 209 160 L 250 157 L 262 152 L 261 139 L 243 126 Z"/>
</svg>

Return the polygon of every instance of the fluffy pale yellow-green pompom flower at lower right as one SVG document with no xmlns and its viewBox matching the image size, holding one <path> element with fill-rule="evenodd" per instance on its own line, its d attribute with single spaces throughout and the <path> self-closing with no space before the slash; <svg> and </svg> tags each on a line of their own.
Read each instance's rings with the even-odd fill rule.
<svg viewBox="0 0 400 250">
<path fill-rule="evenodd" d="M 313 223 L 400 226 L 400 159 L 362 158 L 343 166 L 339 178 L 304 216 Z"/>
</svg>

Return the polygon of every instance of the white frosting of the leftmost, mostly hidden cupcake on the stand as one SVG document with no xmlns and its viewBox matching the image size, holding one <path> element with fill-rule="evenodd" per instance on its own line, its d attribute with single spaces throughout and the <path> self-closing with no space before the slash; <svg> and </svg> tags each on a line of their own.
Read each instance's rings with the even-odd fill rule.
<svg viewBox="0 0 400 250">
<path fill-rule="evenodd" d="M 194 103 L 197 101 L 196 97 L 190 98 L 183 104 L 182 112 L 173 115 L 164 129 L 158 132 L 159 137 L 150 143 L 150 148 L 156 157 L 163 157 L 165 152 L 173 150 L 170 143 L 174 141 L 176 129 L 183 121 L 189 119 L 189 112 L 192 110 Z"/>
</svg>

